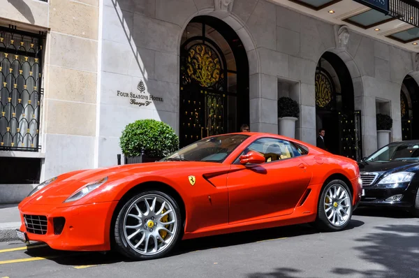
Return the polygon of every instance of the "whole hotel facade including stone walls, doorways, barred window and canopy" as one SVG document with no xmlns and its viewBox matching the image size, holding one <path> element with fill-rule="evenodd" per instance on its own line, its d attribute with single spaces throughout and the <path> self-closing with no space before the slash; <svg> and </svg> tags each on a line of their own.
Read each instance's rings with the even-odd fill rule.
<svg viewBox="0 0 419 278">
<path fill-rule="evenodd" d="M 217 133 L 279 133 L 360 159 L 419 139 L 419 9 L 383 0 L 0 0 L 0 203 L 47 178 L 117 164 L 137 119 L 181 147 Z M 198 64 L 211 65 L 207 73 Z"/>
</svg>

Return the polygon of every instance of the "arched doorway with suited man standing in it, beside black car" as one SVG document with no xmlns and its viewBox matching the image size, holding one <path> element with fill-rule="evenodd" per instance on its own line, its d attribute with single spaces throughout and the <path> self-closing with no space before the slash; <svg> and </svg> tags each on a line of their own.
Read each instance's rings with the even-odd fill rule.
<svg viewBox="0 0 419 278">
<path fill-rule="evenodd" d="M 325 52 L 315 75 L 316 129 L 325 129 L 332 154 L 362 158 L 361 115 L 355 111 L 351 74 L 337 54 Z"/>
</svg>

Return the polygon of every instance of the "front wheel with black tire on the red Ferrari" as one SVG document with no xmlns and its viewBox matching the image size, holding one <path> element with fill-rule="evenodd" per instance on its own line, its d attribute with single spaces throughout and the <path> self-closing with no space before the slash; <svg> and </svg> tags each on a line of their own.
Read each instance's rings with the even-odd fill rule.
<svg viewBox="0 0 419 278">
<path fill-rule="evenodd" d="M 154 200 L 156 203 L 153 205 Z M 166 256 L 175 247 L 181 234 L 182 216 L 179 205 L 174 198 L 162 191 L 144 191 L 133 196 L 125 203 L 115 220 L 116 249 L 135 261 Z"/>
</svg>

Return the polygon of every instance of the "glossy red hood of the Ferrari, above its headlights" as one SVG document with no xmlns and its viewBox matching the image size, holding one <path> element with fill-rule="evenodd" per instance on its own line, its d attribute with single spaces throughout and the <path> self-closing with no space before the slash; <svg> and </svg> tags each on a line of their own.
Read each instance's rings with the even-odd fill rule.
<svg viewBox="0 0 419 278">
<path fill-rule="evenodd" d="M 29 203 L 38 205 L 60 205 L 71 194 L 78 191 L 89 182 L 94 182 L 103 177 L 108 177 L 108 182 L 116 179 L 124 179 L 124 177 L 131 177 L 138 173 L 144 175 L 165 175 L 170 170 L 176 168 L 205 168 L 208 166 L 220 166 L 220 163 L 213 162 L 194 162 L 194 161 L 165 161 L 165 162 L 151 162 L 128 164 L 124 166 L 112 166 L 109 168 L 98 168 L 91 170 L 83 170 L 74 174 L 67 173 L 60 175 L 57 181 L 47 185 L 44 189 L 36 192 Z M 118 177 L 115 177 L 118 175 Z"/>
</svg>

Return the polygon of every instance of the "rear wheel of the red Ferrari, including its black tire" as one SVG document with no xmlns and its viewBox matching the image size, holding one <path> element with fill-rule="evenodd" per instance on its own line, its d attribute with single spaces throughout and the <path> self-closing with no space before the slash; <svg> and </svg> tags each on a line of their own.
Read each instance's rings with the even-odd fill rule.
<svg viewBox="0 0 419 278">
<path fill-rule="evenodd" d="M 332 193 L 333 197 L 335 193 L 337 193 L 337 189 L 339 189 L 339 194 L 337 194 L 337 196 L 340 197 L 343 195 L 344 197 L 341 199 L 332 198 L 332 200 L 330 200 L 330 193 Z M 330 203 L 330 205 L 325 205 L 326 203 Z M 332 210 L 332 212 L 330 212 L 330 210 Z M 342 212 L 346 212 L 346 214 Z M 341 217 L 342 220 L 340 220 L 338 213 L 341 216 L 343 215 L 343 217 Z M 352 194 L 344 181 L 332 180 L 323 186 L 321 196 L 318 200 L 317 218 L 314 222 L 316 228 L 328 232 L 341 231 L 348 226 L 349 221 L 351 221 L 352 213 Z M 330 217 L 331 220 L 329 220 L 328 217 Z"/>
</svg>

